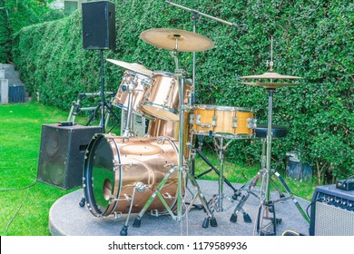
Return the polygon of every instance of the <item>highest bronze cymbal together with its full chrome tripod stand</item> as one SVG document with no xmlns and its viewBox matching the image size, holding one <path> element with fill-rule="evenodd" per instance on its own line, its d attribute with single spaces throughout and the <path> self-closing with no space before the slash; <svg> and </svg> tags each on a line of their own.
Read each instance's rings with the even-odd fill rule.
<svg viewBox="0 0 354 254">
<path fill-rule="evenodd" d="M 138 216 L 134 220 L 133 227 L 140 227 L 141 218 L 145 210 L 150 206 L 152 200 L 156 196 L 162 201 L 162 204 L 164 205 L 166 210 L 170 213 L 172 219 L 181 221 L 181 226 L 182 226 L 182 218 L 186 218 L 188 216 L 188 211 L 191 209 L 193 202 L 198 197 L 202 201 L 202 205 L 206 212 L 206 218 L 204 219 L 202 226 L 206 228 L 209 226 L 209 222 L 211 222 L 211 226 L 215 227 L 217 226 L 217 223 L 215 218 L 212 215 L 211 210 L 209 210 L 208 208 L 208 203 L 205 200 L 205 197 L 202 195 L 202 191 L 200 190 L 197 181 L 192 177 L 192 175 L 188 171 L 186 171 L 187 165 L 184 164 L 183 127 L 184 127 L 184 115 L 185 115 L 184 112 L 187 110 L 187 106 L 183 102 L 184 99 L 183 89 L 185 84 L 184 77 L 183 77 L 184 71 L 182 69 L 179 69 L 179 63 L 178 63 L 179 52 L 204 51 L 204 50 L 211 49 L 214 44 L 210 39 L 200 34 L 178 30 L 178 29 L 163 29 L 163 28 L 150 29 L 144 31 L 140 35 L 140 37 L 145 43 L 152 44 L 159 48 L 170 50 L 174 58 L 174 62 L 176 65 L 174 77 L 178 84 L 178 96 L 179 96 L 179 119 L 178 119 L 179 120 L 179 148 L 177 148 L 176 146 L 174 147 L 179 154 L 179 158 L 178 158 L 179 160 L 178 160 L 178 165 L 173 167 L 166 174 L 166 176 L 160 183 L 157 190 L 155 190 L 155 192 L 152 193 L 152 197 L 150 198 L 150 200 L 146 202 L 145 206 L 143 207 L 143 210 L 138 214 Z M 168 142 L 172 142 L 170 138 L 166 138 L 165 140 Z M 177 171 L 178 173 L 177 208 L 176 208 L 177 214 L 176 215 L 172 212 L 170 207 L 166 206 L 166 202 L 165 200 L 163 200 L 162 194 L 160 193 L 160 189 L 165 185 L 166 181 L 169 179 L 173 171 Z M 182 194 L 182 188 L 184 190 L 186 189 L 187 180 L 190 180 L 192 182 L 192 186 L 196 190 L 192 202 L 188 207 L 186 207 L 185 195 Z M 182 213 L 182 209 L 185 210 L 184 214 Z M 182 227 L 182 233 L 183 233 L 183 227 Z"/>
</svg>

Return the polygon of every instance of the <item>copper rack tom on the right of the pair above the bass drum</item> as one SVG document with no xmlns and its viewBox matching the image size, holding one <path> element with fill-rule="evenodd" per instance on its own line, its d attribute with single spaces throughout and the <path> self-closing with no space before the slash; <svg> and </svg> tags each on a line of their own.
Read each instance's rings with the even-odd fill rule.
<svg viewBox="0 0 354 254">
<path fill-rule="evenodd" d="M 192 84 L 184 80 L 183 104 L 187 104 L 192 93 Z M 163 120 L 179 121 L 179 88 L 173 73 L 152 73 L 151 86 L 143 96 L 142 111 Z"/>
</svg>

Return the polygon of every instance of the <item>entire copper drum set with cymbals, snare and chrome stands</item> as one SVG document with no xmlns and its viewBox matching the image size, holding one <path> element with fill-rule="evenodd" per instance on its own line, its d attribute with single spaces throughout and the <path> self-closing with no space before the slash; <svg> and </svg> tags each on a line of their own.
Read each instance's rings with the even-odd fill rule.
<svg viewBox="0 0 354 254">
<path fill-rule="evenodd" d="M 276 88 L 293 85 L 273 81 L 299 77 L 274 73 L 272 57 L 269 73 L 242 77 L 270 79 L 270 82 L 266 83 L 246 83 L 261 85 L 269 93 L 269 122 L 267 126 L 258 128 L 251 109 L 194 104 L 194 82 L 184 78 L 184 71 L 179 68 L 178 54 L 210 50 L 214 44 L 209 38 L 194 32 L 169 28 L 144 31 L 140 38 L 147 44 L 171 51 L 175 72 L 152 72 L 142 64 L 107 59 L 108 62 L 124 69 L 113 105 L 128 113 L 121 136 L 113 133 L 96 134 L 87 148 L 84 159 L 84 200 L 93 216 L 113 215 L 115 218 L 121 218 L 123 214 L 127 214 L 121 230 L 121 235 L 127 235 L 133 213 L 138 213 L 133 227 L 140 227 L 146 211 L 150 211 L 154 216 L 170 215 L 173 220 L 182 221 L 193 207 L 202 207 L 205 212 L 202 227 L 216 227 L 214 212 L 226 210 L 223 207 L 225 198 L 231 201 L 231 206 L 236 207 L 231 215 L 232 222 L 237 220 L 239 212 L 244 215 L 246 222 L 251 222 L 242 206 L 250 194 L 253 194 L 260 200 L 258 233 L 270 234 L 265 232 L 269 227 L 262 226 L 262 221 L 269 219 L 270 224 L 274 226 L 273 233 L 276 234 L 275 201 L 270 198 L 270 185 L 273 184 L 270 177 L 275 175 L 290 194 L 290 197 L 282 195 L 281 199 L 291 198 L 305 220 L 309 221 L 280 174 L 270 168 L 272 138 L 284 136 L 286 132 L 271 123 L 273 93 Z M 138 137 L 133 132 L 133 113 L 149 119 L 146 136 Z M 200 137 L 206 136 L 213 139 L 219 151 L 220 161 L 219 169 L 215 169 L 219 175 L 218 194 L 209 201 L 203 195 L 193 171 L 195 151 L 198 151 L 194 147 L 195 137 L 201 140 Z M 223 176 L 223 152 L 232 141 L 257 137 L 261 137 L 264 144 L 261 171 L 236 190 Z M 261 181 L 261 190 L 256 188 L 258 181 Z M 223 192 L 224 182 L 235 190 L 231 199 Z M 187 201 L 189 194 L 192 198 Z M 241 200 L 238 200 L 239 197 Z M 197 200 L 200 200 L 202 205 L 197 205 Z M 273 217 L 270 217 L 270 213 Z"/>
</svg>

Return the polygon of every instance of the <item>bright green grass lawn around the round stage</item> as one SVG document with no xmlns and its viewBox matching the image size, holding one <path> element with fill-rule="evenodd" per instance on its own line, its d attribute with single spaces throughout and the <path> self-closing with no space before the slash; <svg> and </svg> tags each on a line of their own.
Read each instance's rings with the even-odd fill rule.
<svg viewBox="0 0 354 254">
<path fill-rule="evenodd" d="M 1 235 L 50 235 L 48 217 L 51 206 L 55 200 L 80 188 L 62 190 L 36 181 L 42 124 L 66 121 L 67 117 L 68 112 L 41 103 L 0 105 Z M 85 121 L 84 118 L 75 119 L 75 122 L 83 124 Z M 212 154 L 207 155 L 218 168 L 218 158 Z M 208 169 L 209 166 L 197 158 L 197 173 Z M 258 170 L 257 166 L 242 167 L 228 160 L 224 162 L 225 176 L 233 182 L 246 182 Z M 215 180 L 216 174 L 209 173 L 205 179 Z M 286 181 L 296 195 L 310 200 L 313 183 Z"/>
</svg>

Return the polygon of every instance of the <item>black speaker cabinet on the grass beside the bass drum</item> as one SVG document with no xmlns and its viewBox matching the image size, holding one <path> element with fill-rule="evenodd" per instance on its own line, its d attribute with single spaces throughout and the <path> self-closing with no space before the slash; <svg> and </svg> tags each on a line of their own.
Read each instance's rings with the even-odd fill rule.
<svg viewBox="0 0 354 254">
<path fill-rule="evenodd" d="M 99 126 L 42 125 L 37 180 L 62 189 L 83 184 L 84 154 Z"/>
</svg>

